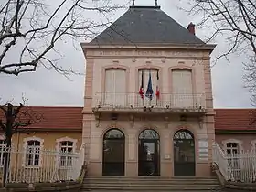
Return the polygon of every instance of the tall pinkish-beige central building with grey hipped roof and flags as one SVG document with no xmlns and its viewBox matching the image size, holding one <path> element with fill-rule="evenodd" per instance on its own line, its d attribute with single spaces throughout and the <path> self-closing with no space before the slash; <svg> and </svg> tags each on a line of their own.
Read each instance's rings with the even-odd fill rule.
<svg viewBox="0 0 256 192">
<path fill-rule="evenodd" d="M 81 47 L 88 174 L 209 176 L 215 45 L 158 5 L 132 5 Z"/>
</svg>

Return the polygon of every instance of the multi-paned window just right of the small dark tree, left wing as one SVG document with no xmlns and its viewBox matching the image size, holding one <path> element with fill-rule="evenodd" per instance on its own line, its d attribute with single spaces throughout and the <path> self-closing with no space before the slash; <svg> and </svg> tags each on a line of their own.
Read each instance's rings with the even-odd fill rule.
<svg viewBox="0 0 256 192">
<path fill-rule="evenodd" d="M 39 166 L 40 161 L 40 142 L 37 140 L 27 141 L 26 148 L 26 165 Z"/>
</svg>

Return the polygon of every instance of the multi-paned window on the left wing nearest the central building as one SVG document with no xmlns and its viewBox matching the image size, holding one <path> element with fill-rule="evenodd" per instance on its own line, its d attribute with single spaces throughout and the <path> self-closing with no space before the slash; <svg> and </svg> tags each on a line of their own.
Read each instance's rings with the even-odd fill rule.
<svg viewBox="0 0 256 192">
<path fill-rule="evenodd" d="M 62 141 L 59 143 L 60 155 L 60 166 L 71 166 L 72 165 L 72 153 L 74 151 L 74 143 L 71 141 Z"/>
</svg>

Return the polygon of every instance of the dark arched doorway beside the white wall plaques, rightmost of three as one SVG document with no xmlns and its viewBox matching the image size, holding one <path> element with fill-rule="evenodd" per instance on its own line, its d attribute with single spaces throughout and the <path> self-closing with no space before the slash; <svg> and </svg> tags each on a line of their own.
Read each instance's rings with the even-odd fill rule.
<svg viewBox="0 0 256 192">
<path fill-rule="evenodd" d="M 195 176 L 195 140 L 193 133 L 179 130 L 174 135 L 174 175 Z"/>
</svg>

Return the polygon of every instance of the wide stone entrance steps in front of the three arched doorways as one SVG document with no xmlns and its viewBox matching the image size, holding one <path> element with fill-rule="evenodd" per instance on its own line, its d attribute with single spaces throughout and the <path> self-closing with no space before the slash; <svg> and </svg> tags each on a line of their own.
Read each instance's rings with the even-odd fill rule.
<svg viewBox="0 0 256 192">
<path fill-rule="evenodd" d="M 87 176 L 81 191 L 91 192 L 217 192 L 222 191 L 216 177 Z"/>
</svg>

